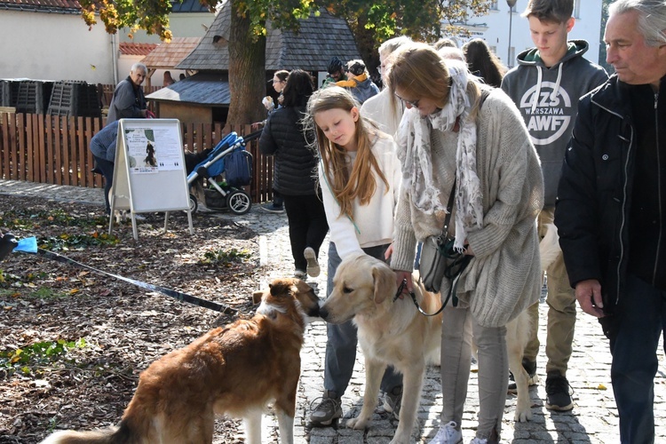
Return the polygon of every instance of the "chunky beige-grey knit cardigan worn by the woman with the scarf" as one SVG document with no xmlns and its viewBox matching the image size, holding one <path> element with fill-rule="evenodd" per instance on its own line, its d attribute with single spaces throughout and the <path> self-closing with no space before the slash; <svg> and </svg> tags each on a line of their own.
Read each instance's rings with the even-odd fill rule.
<svg viewBox="0 0 666 444">
<path fill-rule="evenodd" d="M 433 130 L 431 139 L 432 175 L 446 205 L 456 177 L 457 133 Z M 475 257 L 458 283 L 457 296 L 481 325 L 496 327 L 511 321 L 539 295 L 535 218 L 543 207 L 543 177 L 535 148 L 518 109 L 500 90 L 490 93 L 478 117 L 477 173 L 483 226 L 469 230 L 467 240 Z M 409 193 L 400 191 L 391 261 L 393 269 L 405 271 L 413 268 L 416 240 L 440 234 L 444 222 L 443 215 L 417 210 Z M 450 225 L 449 233 L 455 234 L 455 224 Z M 441 292 L 449 288 L 445 277 Z"/>
</svg>

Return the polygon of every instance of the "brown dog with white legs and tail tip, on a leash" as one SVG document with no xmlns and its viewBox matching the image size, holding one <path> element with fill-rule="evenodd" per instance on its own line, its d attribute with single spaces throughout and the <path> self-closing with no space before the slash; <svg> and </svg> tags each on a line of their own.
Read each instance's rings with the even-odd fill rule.
<svg viewBox="0 0 666 444">
<path fill-rule="evenodd" d="M 319 299 L 305 281 L 277 279 L 250 320 L 213 329 L 153 362 L 120 425 L 99 432 L 57 432 L 43 442 L 208 444 L 214 416 L 242 417 L 246 442 L 261 443 L 261 414 L 274 401 L 282 443 L 294 440 L 300 349 Z"/>
</svg>

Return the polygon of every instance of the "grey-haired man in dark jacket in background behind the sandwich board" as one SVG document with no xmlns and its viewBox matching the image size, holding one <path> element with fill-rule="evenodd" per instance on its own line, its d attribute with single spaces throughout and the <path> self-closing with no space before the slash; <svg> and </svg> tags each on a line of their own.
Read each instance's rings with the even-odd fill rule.
<svg viewBox="0 0 666 444">
<path fill-rule="evenodd" d="M 108 106 L 107 124 L 120 119 L 146 117 L 146 98 L 141 83 L 146 80 L 147 72 L 146 65 L 135 63 L 130 75 L 115 86 L 114 97 Z"/>
</svg>

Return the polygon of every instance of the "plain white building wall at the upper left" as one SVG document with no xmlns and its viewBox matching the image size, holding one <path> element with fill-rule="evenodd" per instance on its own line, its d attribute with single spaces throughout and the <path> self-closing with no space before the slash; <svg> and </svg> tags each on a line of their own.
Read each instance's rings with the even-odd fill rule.
<svg viewBox="0 0 666 444">
<path fill-rule="evenodd" d="M 114 83 L 112 37 L 80 15 L 0 12 L 0 78 Z"/>
</svg>

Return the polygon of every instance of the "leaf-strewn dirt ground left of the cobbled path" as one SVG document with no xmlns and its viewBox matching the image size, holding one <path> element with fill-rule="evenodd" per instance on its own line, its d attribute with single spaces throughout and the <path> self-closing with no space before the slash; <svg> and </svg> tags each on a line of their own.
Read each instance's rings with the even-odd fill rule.
<svg viewBox="0 0 666 444">
<path fill-rule="evenodd" d="M 265 274 L 257 235 L 231 219 L 145 214 L 107 238 L 100 207 L 0 197 L 0 230 L 110 274 L 210 299 L 251 315 Z M 60 429 L 117 424 L 148 364 L 237 319 L 113 277 L 12 253 L 0 263 L 0 443 L 35 443 Z M 215 442 L 242 442 L 240 423 L 216 423 Z"/>
</svg>

